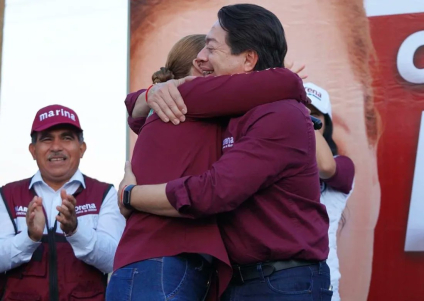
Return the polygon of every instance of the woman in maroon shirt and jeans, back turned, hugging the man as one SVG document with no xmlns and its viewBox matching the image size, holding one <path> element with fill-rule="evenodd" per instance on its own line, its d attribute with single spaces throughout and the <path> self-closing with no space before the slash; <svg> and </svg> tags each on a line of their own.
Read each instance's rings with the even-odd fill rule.
<svg viewBox="0 0 424 301">
<path fill-rule="evenodd" d="M 193 35 L 180 40 L 166 66 L 153 75 L 153 82 L 202 75 L 201 62 L 195 58 L 204 47 L 204 37 Z M 299 88 L 300 78 L 283 68 L 196 78 L 179 89 L 188 113 L 178 126 L 162 122 L 156 114 L 132 118 L 145 90 L 129 94 L 125 101 L 128 123 L 138 133 L 131 161 L 134 182 L 158 184 L 202 174 L 221 156 L 222 128 L 230 116 L 279 99 L 299 99 Z M 267 94 L 262 95 L 261 89 Z M 146 106 L 146 115 L 148 110 Z M 210 280 L 218 278 L 213 277 L 215 270 L 219 285 L 211 290 L 210 297 L 224 291 L 231 278 L 231 265 L 215 217 L 174 219 L 126 208 L 121 212 L 128 219 L 116 252 L 107 300 L 123 300 L 122 294 L 131 296 L 125 300 L 163 300 L 176 295 L 184 300 L 202 300 Z"/>
</svg>

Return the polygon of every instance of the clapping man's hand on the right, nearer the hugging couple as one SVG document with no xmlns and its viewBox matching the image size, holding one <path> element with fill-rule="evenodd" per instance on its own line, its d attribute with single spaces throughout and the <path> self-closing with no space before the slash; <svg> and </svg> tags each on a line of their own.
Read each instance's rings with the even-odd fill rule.
<svg viewBox="0 0 424 301">
<path fill-rule="evenodd" d="M 63 233 L 71 235 L 76 231 L 78 226 L 77 215 L 75 213 L 77 200 L 72 195 L 67 194 L 64 189 L 60 191 L 60 197 L 62 198 L 62 205 L 56 207 L 60 213 L 56 216 L 56 220 L 60 223 Z"/>
</svg>

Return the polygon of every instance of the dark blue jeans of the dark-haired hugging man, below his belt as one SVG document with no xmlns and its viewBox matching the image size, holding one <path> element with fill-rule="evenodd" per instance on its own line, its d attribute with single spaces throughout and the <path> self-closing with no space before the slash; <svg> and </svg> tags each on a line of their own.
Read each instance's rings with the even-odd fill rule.
<svg viewBox="0 0 424 301">
<path fill-rule="evenodd" d="M 258 265 L 258 271 L 262 271 Z M 233 284 L 221 301 L 330 301 L 330 269 L 325 262 L 274 272 L 268 277 Z"/>
</svg>

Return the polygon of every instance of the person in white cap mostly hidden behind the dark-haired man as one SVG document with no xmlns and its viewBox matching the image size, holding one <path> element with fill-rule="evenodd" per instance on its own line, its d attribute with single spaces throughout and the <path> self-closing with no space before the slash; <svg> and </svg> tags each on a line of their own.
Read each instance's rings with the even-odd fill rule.
<svg viewBox="0 0 424 301">
<path fill-rule="evenodd" d="M 353 189 L 355 168 L 350 158 L 338 155 L 337 145 L 333 140 L 333 123 L 331 103 L 328 92 L 312 83 L 304 84 L 311 104 L 311 115 L 319 118 L 322 128 L 315 131 L 317 163 L 321 181 L 321 203 L 327 208 L 330 219 L 328 230 L 330 253 L 327 264 L 331 272 L 333 301 L 339 301 L 339 259 L 337 256 L 337 230 L 346 207 L 347 199 Z M 343 224 L 343 222 L 342 222 Z"/>
</svg>

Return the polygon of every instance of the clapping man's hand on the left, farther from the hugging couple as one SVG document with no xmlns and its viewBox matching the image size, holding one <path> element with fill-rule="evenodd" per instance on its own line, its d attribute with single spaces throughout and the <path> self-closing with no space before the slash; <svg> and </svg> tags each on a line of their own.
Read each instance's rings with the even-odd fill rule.
<svg viewBox="0 0 424 301">
<path fill-rule="evenodd" d="M 33 241 L 40 241 L 46 226 L 46 217 L 43 212 L 43 200 L 38 196 L 35 196 L 28 205 L 26 223 L 29 238 Z"/>
</svg>

